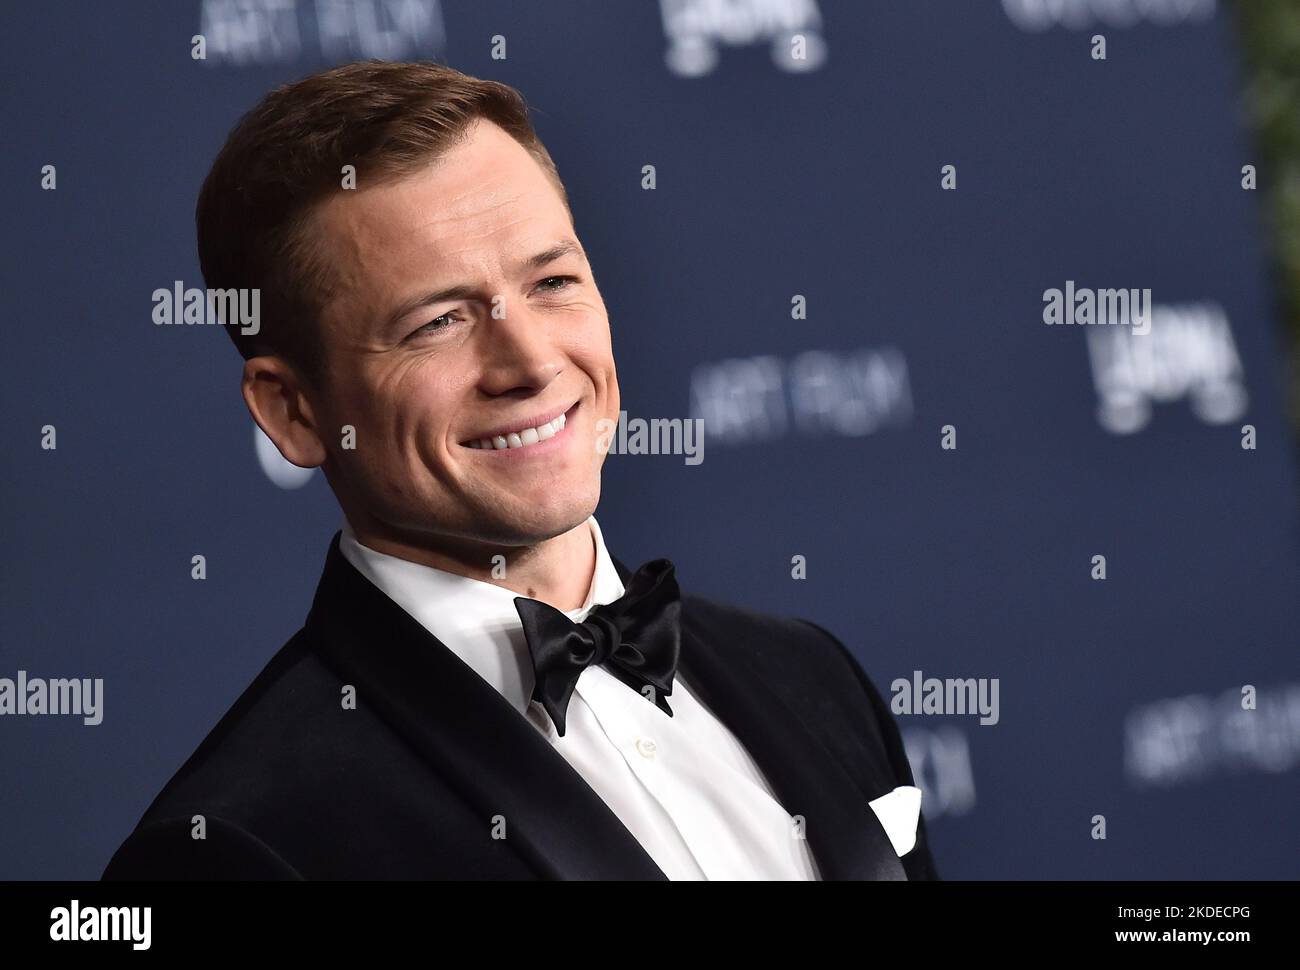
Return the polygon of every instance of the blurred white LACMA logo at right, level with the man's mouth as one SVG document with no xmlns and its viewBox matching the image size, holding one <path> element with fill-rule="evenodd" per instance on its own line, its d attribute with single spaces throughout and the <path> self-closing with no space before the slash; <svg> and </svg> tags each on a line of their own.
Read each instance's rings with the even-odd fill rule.
<svg viewBox="0 0 1300 970">
<path fill-rule="evenodd" d="M 1140 432 L 1153 403 L 1184 398 L 1205 424 L 1228 424 L 1245 413 L 1242 358 L 1217 303 L 1157 303 L 1147 334 L 1089 326 L 1087 337 L 1097 421 L 1112 434 Z"/>
</svg>

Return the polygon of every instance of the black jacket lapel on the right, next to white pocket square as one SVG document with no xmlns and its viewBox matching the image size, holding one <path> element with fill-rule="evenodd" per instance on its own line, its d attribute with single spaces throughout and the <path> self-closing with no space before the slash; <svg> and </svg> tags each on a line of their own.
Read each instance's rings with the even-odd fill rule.
<svg viewBox="0 0 1300 970">
<path fill-rule="evenodd" d="M 630 571 L 610 559 L 627 584 Z M 779 694 L 748 667 L 722 662 L 685 611 L 677 670 L 754 757 L 781 806 L 803 817 L 822 879 L 907 879 L 867 794 Z"/>
</svg>

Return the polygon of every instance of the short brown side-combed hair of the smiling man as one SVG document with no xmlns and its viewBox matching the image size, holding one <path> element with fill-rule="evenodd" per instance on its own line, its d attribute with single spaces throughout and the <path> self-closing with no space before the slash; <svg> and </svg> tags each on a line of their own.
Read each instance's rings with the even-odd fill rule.
<svg viewBox="0 0 1300 970">
<path fill-rule="evenodd" d="M 259 333 L 224 328 L 244 359 L 277 354 L 312 382 L 324 377 L 316 320 L 330 276 L 311 238 L 316 205 L 342 191 L 344 165 L 358 187 L 413 174 L 477 118 L 526 148 L 568 208 L 523 95 L 441 64 L 344 64 L 272 91 L 239 120 L 203 182 L 195 222 L 208 289 L 260 290 Z"/>
</svg>

